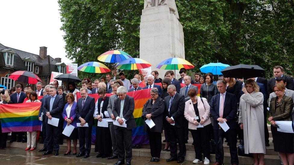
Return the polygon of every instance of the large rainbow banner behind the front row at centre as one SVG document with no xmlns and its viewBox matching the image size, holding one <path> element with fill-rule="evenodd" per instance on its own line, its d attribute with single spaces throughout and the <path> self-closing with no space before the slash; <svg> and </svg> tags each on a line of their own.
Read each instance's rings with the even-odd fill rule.
<svg viewBox="0 0 294 165">
<path fill-rule="evenodd" d="M 139 144 L 149 144 L 149 139 L 147 133 L 144 131 L 144 120 L 141 118 L 142 116 L 142 109 L 144 104 L 148 99 L 151 98 L 150 96 L 151 89 L 144 89 L 144 90 L 137 90 L 135 92 L 128 92 L 127 95 L 132 96 L 135 101 L 135 108 L 133 112 L 133 116 L 135 118 L 137 127 L 133 128 L 132 130 L 132 141 L 133 145 Z M 88 94 L 90 97 L 95 98 L 95 102 L 98 100 L 98 94 Z M 111 94 L 106 94 L 107 96 L 111 96 Z M 81 97 L 80 93 L 77 93 L 77 99 Z M 96 123 L 96 122 L 95 122 Z M 93 125 L 92 128 L 92 143 L 95 143 L 96 138 L 96 125 Z"/>
</svg>

